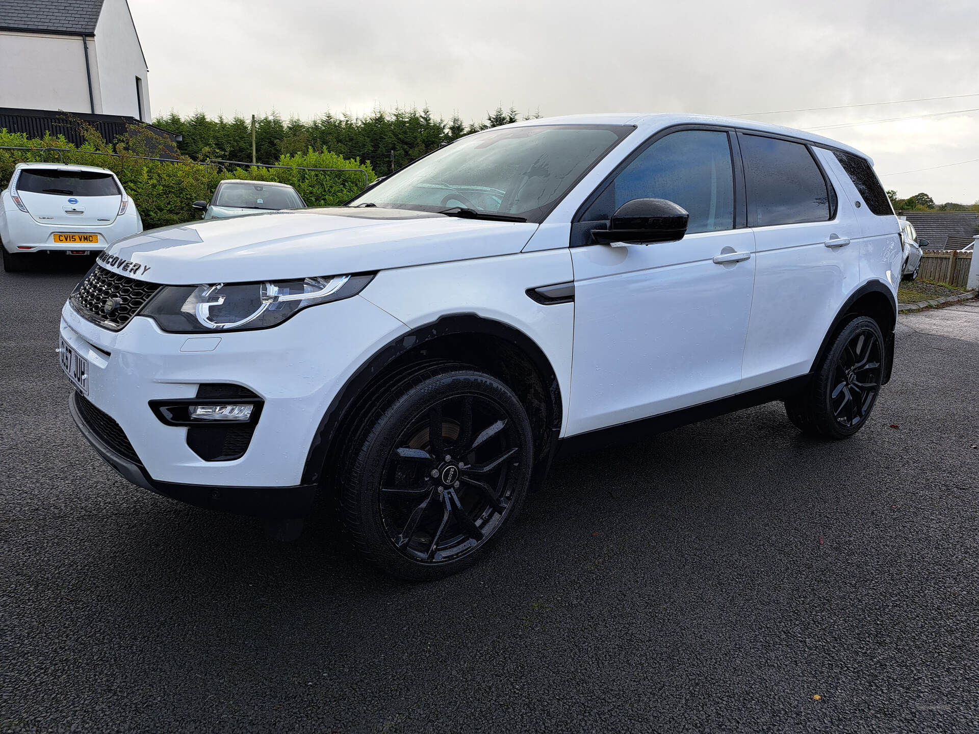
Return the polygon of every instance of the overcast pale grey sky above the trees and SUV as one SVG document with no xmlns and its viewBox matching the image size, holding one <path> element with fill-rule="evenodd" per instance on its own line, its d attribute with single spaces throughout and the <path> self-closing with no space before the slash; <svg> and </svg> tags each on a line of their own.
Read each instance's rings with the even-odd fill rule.
<svg viewBox="0 0 979 734">
<path fill-rule="evenodd" d="M 155 115 L 428 105 L 482 118 L 690 112 L 816 127 L 979 108 L 976 0 L 129 0 Z M 979 200 L 979 112 L 822 130 L 886 188 Z"/>
</svg>

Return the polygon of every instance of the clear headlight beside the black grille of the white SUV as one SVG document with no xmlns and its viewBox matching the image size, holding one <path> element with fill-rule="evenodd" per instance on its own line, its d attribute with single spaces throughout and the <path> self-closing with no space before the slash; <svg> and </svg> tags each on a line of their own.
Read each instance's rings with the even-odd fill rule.
<svg viewBox="0 0 979 734">
<path fill-rule="evenodd" d="M 218 332 L 267 329 L 317 303 L 350 298 L 373 279 L 367 275 L 163 286 L 140 315 L 156 319 L 165 332 Z"/>
</svg>

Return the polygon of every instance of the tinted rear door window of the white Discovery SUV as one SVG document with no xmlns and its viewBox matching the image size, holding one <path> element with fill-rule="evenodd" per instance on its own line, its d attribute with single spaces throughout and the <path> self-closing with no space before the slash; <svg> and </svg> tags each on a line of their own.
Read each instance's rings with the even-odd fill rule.
<svg viewBox="0 0 979 734">
<path fill-rule="evenodd" d="M 806 146 L 758 135 L 742 135 L 740 142 L 750 226 L 830 218 L 826 181 Z"/>
</svg>

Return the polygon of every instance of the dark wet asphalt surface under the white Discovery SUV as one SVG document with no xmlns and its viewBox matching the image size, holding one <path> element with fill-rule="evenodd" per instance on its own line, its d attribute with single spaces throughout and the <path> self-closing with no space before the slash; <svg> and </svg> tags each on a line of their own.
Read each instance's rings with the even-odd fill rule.
<svg viewBox="0 0 979 734">
<path fill-rule="evenodd" d="M 476 568 L 364 567 L 121 480 L 0 274 L 0 730 L 979 729 L 979 302 L 903 316 L 851 440 L 773 403 L 555 468 Z M 816 699 L 816 696 L 819 699 Z"/>
</svg>

